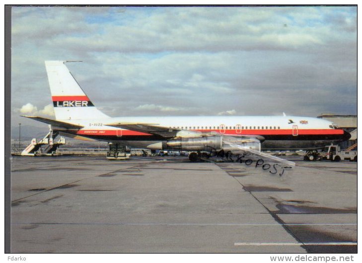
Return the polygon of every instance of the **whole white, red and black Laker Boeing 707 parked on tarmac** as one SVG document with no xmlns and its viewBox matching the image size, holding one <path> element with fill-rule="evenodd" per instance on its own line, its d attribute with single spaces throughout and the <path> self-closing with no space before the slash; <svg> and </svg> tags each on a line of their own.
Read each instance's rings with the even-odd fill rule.
<svg viewBox="0 0 362 263">
<path fill-rule="evenodd" d="M 75 139 L 200 155 L 237 153 L 241 148 L 310 151 L 351 137 L 330 121 L 300 116 L 110 117 L 95 107 L 66 62 L 45 61 L 55 119 L 24 117 L 50 124 Z M 190 160 L 195 158 L 195 154 L 190 155 Z"/>
</svg>

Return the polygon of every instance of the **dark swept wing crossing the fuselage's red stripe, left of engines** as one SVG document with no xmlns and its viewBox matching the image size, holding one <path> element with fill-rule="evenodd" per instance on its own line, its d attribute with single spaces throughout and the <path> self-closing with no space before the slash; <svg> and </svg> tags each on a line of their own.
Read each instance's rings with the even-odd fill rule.
<svg viewBox="0 0 362 263">
<path fill-rule="evenodd" d="M 107 126 L 122 128 L 126 130 L 145 132 L 150 134 L 160 135 L 165 138 L 175 137 L 176 133 L 181 131 L 181 129 L 174 129 L 162 126 L 156 126 L 155 124 L 147 123 L 109 123 Z"/>
</svg>

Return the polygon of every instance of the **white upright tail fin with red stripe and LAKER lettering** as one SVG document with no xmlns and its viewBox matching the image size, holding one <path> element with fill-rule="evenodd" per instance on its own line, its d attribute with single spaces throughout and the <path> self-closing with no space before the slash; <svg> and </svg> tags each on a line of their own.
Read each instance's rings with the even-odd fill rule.
<svg viewBox="0 0 362 263">
<path fill-rule="evenodd" d="M 45 61 L 49 87 L 57 120 L 108 118 L 98 110 L 64 64 L 67 61 Z"/>
</svg>

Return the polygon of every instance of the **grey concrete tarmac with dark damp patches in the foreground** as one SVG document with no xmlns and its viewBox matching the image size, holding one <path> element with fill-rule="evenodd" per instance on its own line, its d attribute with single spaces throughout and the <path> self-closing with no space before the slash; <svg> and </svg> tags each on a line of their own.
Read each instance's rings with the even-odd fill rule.
<svg viewBox="0 0 362 263">
<path fill-rule="evenodd" d="M 12 157 L 11 253 L 357 253 L 357 163 Z"/>
</svg>

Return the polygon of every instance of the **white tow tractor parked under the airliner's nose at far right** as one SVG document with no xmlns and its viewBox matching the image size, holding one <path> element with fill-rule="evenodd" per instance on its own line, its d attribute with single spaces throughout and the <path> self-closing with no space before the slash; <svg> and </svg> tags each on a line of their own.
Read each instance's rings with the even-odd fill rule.
<svg viewBox="0 0 362 263">
<path fill-rule="evenodd" d="M 329 145 L 322 149 L 322 151 L 308 151 L 304 155 L 304 161 L 322 161 L 330 160 L 334 162 L 339 161 L 354 161 L 357 162 L 357 151 L 352 151 L 357 148 L 357 143 L 352 145 L 346 151 L 341 151 L 337 145 Z"/>
</svg>

